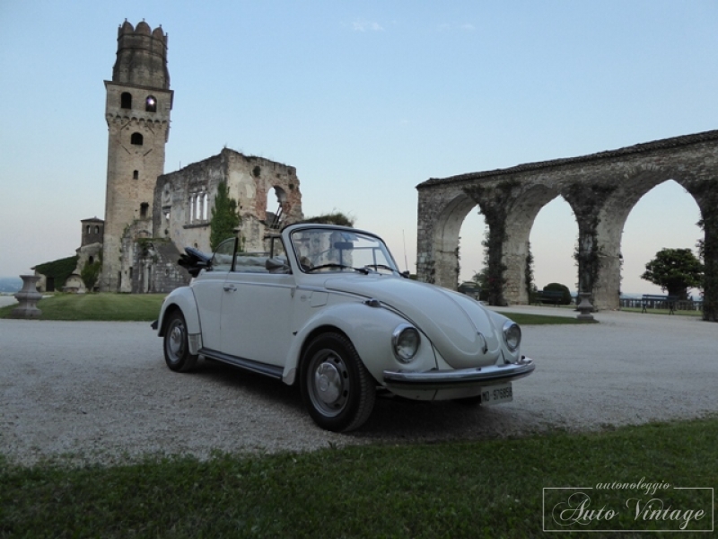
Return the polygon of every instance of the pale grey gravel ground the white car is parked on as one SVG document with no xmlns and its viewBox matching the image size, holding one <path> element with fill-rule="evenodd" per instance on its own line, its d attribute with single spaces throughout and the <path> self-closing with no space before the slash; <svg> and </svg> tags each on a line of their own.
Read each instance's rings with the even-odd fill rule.
<svg viewBox="0 0 718 539">
<path fill-rule="evenodd" d="M 514 312 L 574 316 L 550 307 Z M 483 439 L 593 430 L 718 411 L 718 324 L 687 316 L 606 312 L 599 324 L 526 326 L 537 362 L 513 402 L 378 399 L 363 429 L 319 429 L 297 389 L 203 362 L 164 365 L 148 323 L 0 320 L 0 454 L 32 464 L 115 463 L 144 454 L 305 451 L 365 443 Z"/>
</svg>

